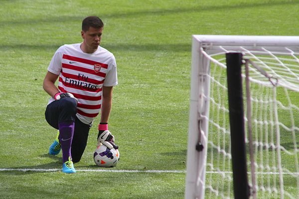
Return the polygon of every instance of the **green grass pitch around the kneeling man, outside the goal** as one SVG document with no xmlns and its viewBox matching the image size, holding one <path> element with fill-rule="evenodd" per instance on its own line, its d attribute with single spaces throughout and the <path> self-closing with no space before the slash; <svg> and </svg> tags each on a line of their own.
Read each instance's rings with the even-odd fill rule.
<svg viewBox="0 0 299 199">
<path fill-rule="evenodd" d="M 0 171 L 0 198 L 182 199 L 191 35 L 298 35 L 298 10 L 298 0 L 0 0 L 0 169 L 12 170 Z M 56 130 L 42 81 L 56 49 L 82 41 L 88 15 L 104 21 L 101 45 L 117 59 L 109 124 L 121 159 L 105 170 L 119 172 L 94 165 L 94 125 L 66 175 L 61 154 L 48 155 Z"/>
</svg>

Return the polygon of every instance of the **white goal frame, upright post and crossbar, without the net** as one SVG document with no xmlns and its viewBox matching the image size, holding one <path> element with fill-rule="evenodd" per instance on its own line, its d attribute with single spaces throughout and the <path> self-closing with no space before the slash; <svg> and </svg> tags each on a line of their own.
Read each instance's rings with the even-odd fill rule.
<svg viewBox="0 0 299 199">
<path fill-rule="evenodd" d="M 240 35 L 192 35 L 191 90 L 187 148 L 187 173 L 185 199 L 204 199 L 208 141 L 210 95 L 209 54 L 222 52 L 222 46 L 230 52 L 241 52 L 239 47 L 255 50 L 258 47 L 299 47 L 299 36 L 240 36 Z M 212 60 L 217 62 L 217 60 Z M 283 83 L 281 83 L 283 84 Z M 299 91 L 297 87 L 293 90 Z"/>
</svg>

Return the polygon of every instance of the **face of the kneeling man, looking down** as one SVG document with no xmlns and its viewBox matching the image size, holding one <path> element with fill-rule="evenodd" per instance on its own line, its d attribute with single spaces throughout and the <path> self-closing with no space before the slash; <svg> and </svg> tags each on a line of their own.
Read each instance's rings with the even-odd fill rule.
<svg viewBox="0 0 299 199">
<path fill-rule="evenodd" d="M 98 46 L 100 45 L 102 39 L 102 33 L 103 33 L 103 27 L 102 28 L 89 27 L 89 29 L 86 32 L 82 30 L 81 36 L 84 40 L 83 42 L 86 45 L 86 47 L 90 50 L 98 49 Z"/>
</svg>

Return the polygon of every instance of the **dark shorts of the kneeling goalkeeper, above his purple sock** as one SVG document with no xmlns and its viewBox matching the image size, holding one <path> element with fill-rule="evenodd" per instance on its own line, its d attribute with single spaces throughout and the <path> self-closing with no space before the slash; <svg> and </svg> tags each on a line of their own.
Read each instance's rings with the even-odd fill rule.
<svg viewBox="0 0 299 199">
<path fill-rule="evenodd" d="M 73 98 L 63 98 L 47 105 L 46 121 L 58 129 L 59 122 L 74 121 L 75 129 L 72 141 L 71 154 L 73 162 L 79 162 L 87 145 L 88 133 L 91 125 L 81 122 L 76 117 L 77 102 Z"/>
</svg>

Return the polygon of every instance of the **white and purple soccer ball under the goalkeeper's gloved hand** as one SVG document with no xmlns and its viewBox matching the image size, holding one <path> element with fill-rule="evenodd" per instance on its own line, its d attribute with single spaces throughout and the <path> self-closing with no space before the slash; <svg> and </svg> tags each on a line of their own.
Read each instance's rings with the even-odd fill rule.
<svg viewBox="0 0 299 199">
<path fill-rule="evenodd" d="M 120 152 L 118 149 L 109 149 L 104 144 L 97 147 L 94 153 L 95 163 L 99 167 L 115 167 L 120 159 Z"/>
</svg>

